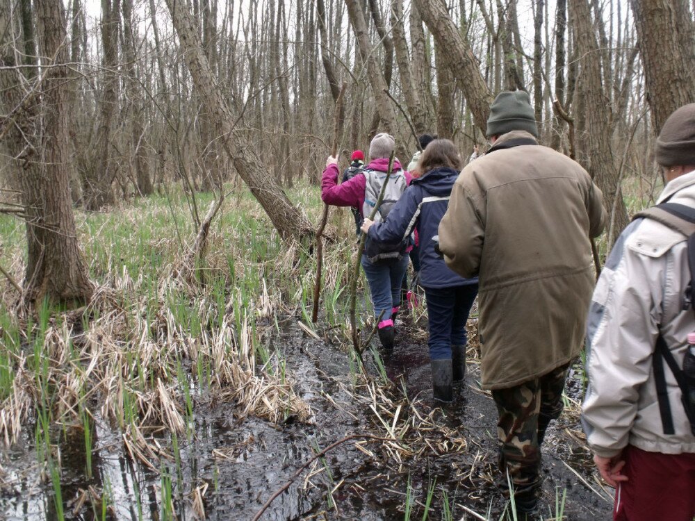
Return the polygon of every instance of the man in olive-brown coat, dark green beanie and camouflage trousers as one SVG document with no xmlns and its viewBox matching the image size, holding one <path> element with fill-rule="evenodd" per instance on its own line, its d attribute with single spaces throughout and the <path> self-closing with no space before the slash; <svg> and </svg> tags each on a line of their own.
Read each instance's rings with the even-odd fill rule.
<svg viewBox="0 0 695 521">
<path fill-rule="evenodd" d="M 500 470 L 523 519 L 537 510 L 540 445 L 581 349 L 594 288 L 589 237 L 606 212 L 589 174 L 538 144 L 526 92 L 498 95 L 487 135 L 493 146 L 459 175 L 439 240 L 451 270 L 480 278 L 482 387 L 498 408 Z"/>
</svg>

